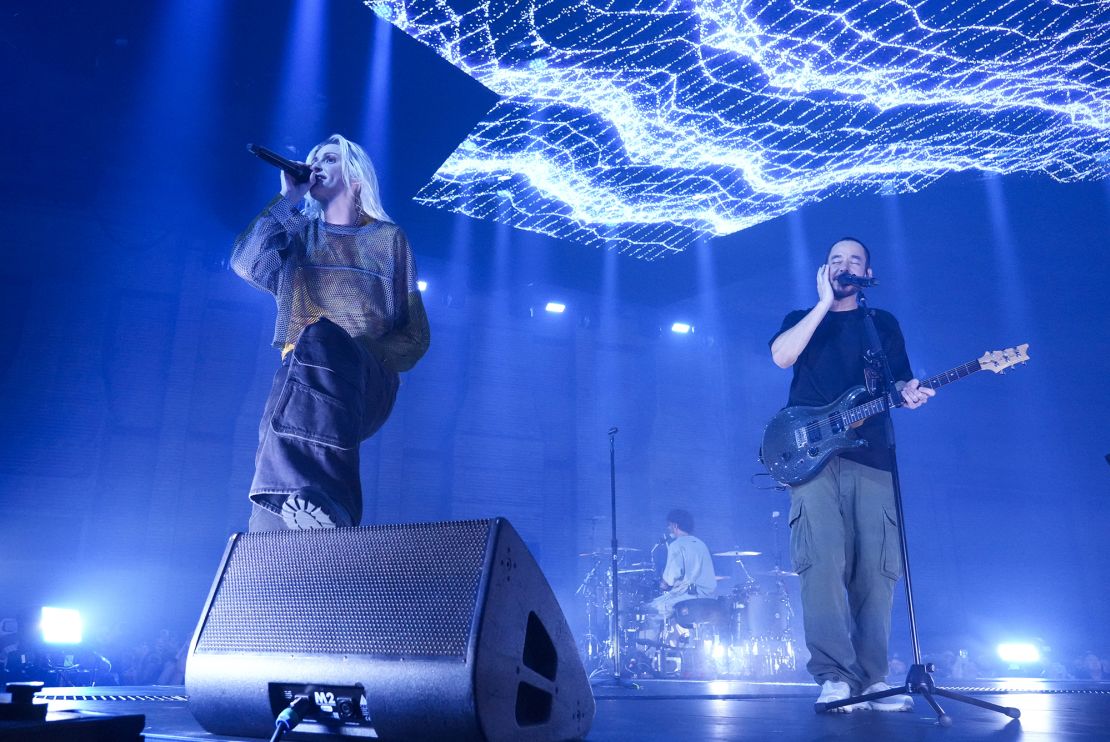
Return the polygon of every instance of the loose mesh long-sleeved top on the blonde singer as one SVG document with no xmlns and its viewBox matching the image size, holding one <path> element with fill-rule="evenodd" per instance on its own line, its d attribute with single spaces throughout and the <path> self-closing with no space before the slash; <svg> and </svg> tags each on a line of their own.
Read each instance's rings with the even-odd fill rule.
<svg viewBox="0 0 1110 742">
<path fill-rule="evenodd" d="M 407 371 L 427 350 L 416 264 L 392 222 L 329 224 L 279 195 L 235 240 L 231 268 L 274 295 L 278 348 L 326 317 L 394 371 Z"/>
</svg>

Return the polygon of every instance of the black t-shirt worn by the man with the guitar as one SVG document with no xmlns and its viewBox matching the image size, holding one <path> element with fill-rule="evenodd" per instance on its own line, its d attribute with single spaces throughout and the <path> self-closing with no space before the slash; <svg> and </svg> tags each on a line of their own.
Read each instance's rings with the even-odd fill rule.
<svg viewBox="0 0 1110 742">
<path fill-rule="evenodd" d="M 783 327 L 775 338 L 801 321 L 808 309 L 798 309 L 786 315 Z M 906 340 L 902 338 L 898 320 L 890 312 L 875 310 L 875 327 L 882 341 L 882 350 L 890 362 L 890 372 L 896 381 L 914 378 L 909 358 L 906 355 Z M 775 342 L 770 339 L 770 343 Z M 851 389 L 866 384 L 864 353 L 867 351 L 867 331 L 864 328 L 864 310 L 828 312 L 814 331 L 806 349 L 794 363 L 794 380 L 787 407 L 824 407 Z M 868 418 L 855 429 L 856 435 L 866 440 L 867 448 L 841 453 L 845 459 L 861 464 L 890 471 L 890 449 L 886 442 L 881 415 Z"/>
</svg>

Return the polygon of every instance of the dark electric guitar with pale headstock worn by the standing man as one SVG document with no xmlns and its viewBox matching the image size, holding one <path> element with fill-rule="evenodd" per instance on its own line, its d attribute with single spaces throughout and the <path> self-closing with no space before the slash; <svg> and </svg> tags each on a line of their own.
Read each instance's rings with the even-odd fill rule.
<svg viewBox="0 0 1110 742">
<path fill-rule="evenodd" d="M 988 351 L 973 361 L 926 379 L 922 387 L 937 389 L 966 379 L 977 371 L 1001 373 L 1029 360 L 1029 343 Z M 825 407 L 789 407 L 770 419 L 764 429 L 759 459 L 770 475 L 783 484 L 800 484 L 811 479 L 836 454 L 867 445 L 851 429 L 867 418 L 902 405 L 901 392 L 866 399 L 867 389 L 854 387 Z"/>
</svg>

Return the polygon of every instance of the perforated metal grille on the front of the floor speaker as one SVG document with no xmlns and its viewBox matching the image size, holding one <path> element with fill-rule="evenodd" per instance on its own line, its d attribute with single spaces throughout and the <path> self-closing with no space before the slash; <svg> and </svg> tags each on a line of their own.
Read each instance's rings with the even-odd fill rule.
<svg viewBox="0 0 1110 742">
<path fill-rule="evenodd" d="M 195 652 L 464 661 L 491 525 L 244 534 Z"/>
</svg>

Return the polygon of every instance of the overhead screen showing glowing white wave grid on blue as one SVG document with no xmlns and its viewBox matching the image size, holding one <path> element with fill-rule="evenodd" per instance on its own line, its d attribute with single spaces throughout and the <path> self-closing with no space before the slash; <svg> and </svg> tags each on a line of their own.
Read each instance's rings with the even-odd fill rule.
<svg viewBox="0 0 1110 742">
<path fill-rule="evenodd" d="M 946 173 L 1110 174 L 1110 3 L 367 0 L 501 96 L 417 200 L 654 260 Z"/>
</svg>

